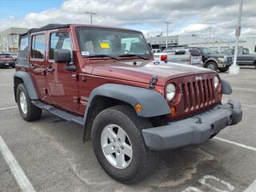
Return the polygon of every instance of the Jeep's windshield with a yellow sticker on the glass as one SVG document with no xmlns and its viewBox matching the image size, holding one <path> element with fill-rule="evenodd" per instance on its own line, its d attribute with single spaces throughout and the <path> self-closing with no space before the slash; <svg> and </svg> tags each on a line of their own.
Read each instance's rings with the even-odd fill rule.
<svg viewBox="0 0 256 192">
<path fill-rule="evenodd" d="M 150 54 L 145 38 L 138 32 L 78 27 L 77 34 L 82 56 Z"/>
</svg>

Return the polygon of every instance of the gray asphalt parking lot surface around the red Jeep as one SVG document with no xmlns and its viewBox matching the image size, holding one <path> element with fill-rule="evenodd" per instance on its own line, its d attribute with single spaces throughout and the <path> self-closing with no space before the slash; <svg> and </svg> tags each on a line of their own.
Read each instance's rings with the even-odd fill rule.
<svg viewBox="0 0 256 192">
<path fill-rule="evenodd" d="M 242 102 L 242 122 L 202 145 L 162 154 L 158 169 L 130 186 L 102 170 L 91 142 L 82 142 L 79 126 L 47 113 L 25 122 L 14 102 L 13 72 L 0 70 L 0 143 L 6 143 L 36 191 L 256 191 L 255 68 L 243 67 L 237 76 L 221 74 L 234 90 L 223 101 Z M 9 164 L 0 153 L 0 191 L 22 191 Z"/>
</svg>

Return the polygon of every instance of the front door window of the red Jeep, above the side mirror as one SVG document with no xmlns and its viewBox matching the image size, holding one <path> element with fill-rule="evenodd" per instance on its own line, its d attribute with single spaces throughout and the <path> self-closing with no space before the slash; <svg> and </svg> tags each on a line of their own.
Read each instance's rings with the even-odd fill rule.
<svg viewBox="0 0 256 192">
<path fill-rule="evenodd" d="M 54 50 L 62 50 L 62 49 L 70 50 L 70 52 L 72 53 L 70 34 L 66 32 L 58 32 L 58 33 L 50 34 L 50 58 L 49 59 L 54 59 Z"/>
</svg>

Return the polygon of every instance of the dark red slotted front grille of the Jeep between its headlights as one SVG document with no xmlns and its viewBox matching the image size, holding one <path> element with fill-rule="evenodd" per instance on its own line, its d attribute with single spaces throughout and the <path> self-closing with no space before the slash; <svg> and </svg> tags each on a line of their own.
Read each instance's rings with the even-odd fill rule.
<svg viewBox="0 0 256 192">
<path fill-rule="evenodd" d="M 216 99 L 213 78 L 182 83 L 181 90 L 183 109 L 186 113 L 210 106 Z"/>
</svg>

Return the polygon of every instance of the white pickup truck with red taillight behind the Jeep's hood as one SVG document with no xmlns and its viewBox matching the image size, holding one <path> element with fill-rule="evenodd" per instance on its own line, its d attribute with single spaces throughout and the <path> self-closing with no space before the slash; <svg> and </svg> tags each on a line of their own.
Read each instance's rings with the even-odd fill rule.
<svg viewBox="0 0 256 192">
<path fill-rule="evenodd" d="M 195 49 L 164 50 L 155 53 L 154 60 L 166 62 L 178 62 L 186 65 L 202 66 L 202 55 Z"/>
</svg>

